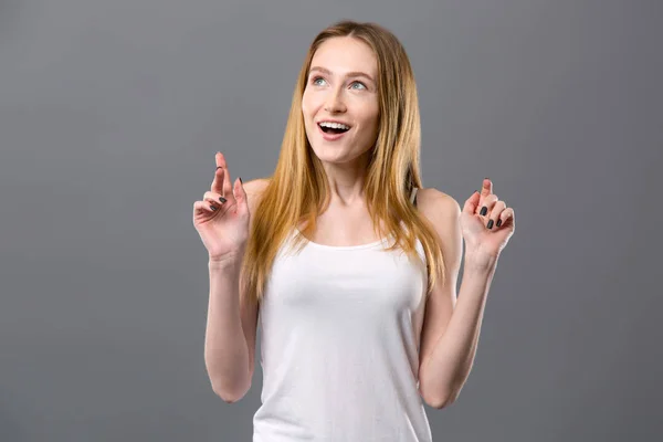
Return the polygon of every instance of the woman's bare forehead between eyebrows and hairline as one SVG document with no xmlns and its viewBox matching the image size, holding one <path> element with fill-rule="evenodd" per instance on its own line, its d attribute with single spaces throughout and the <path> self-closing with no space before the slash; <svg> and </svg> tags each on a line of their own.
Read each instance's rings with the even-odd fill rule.
<svg viewBox="0 0 663 442">
<path fill-rule="evenodd" d="M 335 36 L 325 41 L 313 55 L 311 65 L 326 67 L 338 75 L 360 71 L 373 78 L 378 71 L 378 61 L 372 49 L 351 36 Z"/>
</svg>

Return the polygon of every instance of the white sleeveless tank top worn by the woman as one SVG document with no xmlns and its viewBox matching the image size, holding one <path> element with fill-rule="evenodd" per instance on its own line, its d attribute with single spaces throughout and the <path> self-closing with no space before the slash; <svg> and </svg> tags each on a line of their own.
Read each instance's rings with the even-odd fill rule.
<svg viewBox="0 0 663 442">
<path fill-rule="evenodd" d="M 419 394 L 425 254 L 419 240 L 423 264 L 382 251 L 391 240 L 280 250 L 260 307 L 253 442 L 432 441 Z"/>
</svg>

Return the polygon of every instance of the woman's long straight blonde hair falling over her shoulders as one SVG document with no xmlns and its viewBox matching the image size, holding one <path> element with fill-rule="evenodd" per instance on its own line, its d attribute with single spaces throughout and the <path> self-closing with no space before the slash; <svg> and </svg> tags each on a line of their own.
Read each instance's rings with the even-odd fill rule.
<svg viewBox="0 0 663 442">
<path fill-rule="evenodd" d="M 253 303 L 262 302 L 272 264 L 288 234 L 299 222 L 305 222 L 303 235 L 295 235 L 292 244 L 301 250 L 307 241 L 304 236 L 311 238 L 315 231 L 316 217 L 329 204 L 325 170 L 306 136 L 302 97 L 313 55 L 322 43 L 335 36 L 359 39 L 373 50 L 378 60 L 379 129 L 364 188 L 376 234 L 379 238 L 393 234 L 394 243 L 388 250 L 400 248 L 415 260 L 420 260 L 415 241 L 421 241 L 427 257 L 427 297 L 436 277 L 443 281 L 445 277 L 439 236 L 409 200 L 413 187 L 422 188 L 421 123 L 410 61 L 387 29 L 344 20 L 323 30 L 308 49 L 293 94 L 276 169 L 251 214 L 241 293 Z M 386 231 L 380 230 L 380 221 Z"/>
</svg>

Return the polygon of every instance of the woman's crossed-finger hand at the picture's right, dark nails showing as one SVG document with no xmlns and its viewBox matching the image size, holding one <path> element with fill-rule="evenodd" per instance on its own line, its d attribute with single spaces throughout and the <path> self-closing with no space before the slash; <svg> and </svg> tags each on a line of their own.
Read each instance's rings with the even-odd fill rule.
<svg viewBox="0 0 663 442">
<path fill-rule="evenodd" d="M 465 201 L 461 212 L 461 229 L 465 240 L 465 261 L 478 267 L 497 261 L 516 228 L 514 209 L 493 193 L 493 182 L 486 178 L 480 192 Z"/>
</svg>

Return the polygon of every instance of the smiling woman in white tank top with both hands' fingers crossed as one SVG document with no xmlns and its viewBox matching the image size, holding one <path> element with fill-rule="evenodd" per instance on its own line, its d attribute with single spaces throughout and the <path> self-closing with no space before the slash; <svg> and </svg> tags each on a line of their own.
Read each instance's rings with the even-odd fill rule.
<svg viewBox="0 0 663 442">
<path fill-rule="evenodd" d="M 221 398 L 242 398 L 260 312 L 254 441 L 431 441 L 423 402 L 457 397 L 514 211 L 490 179 L 463 210 L 422 189 L 419 155 L 408 56 L 352 21 L 312 43 L 271 178 L 231 183 L 217 152 L 193 210 L 209 252 L 206 365 Z"/>
</svg>

